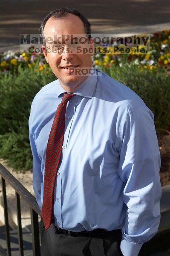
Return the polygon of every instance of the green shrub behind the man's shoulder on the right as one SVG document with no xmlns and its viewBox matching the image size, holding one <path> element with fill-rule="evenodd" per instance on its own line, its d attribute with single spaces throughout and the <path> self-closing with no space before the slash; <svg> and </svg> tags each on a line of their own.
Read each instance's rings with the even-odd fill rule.
<svg viewBox="0 0 170 256">
<path fill-rule="evenodd" d="M 160 69 L 140 71 L 136 65 L 103 68 L 112 78 L 126 84 L 137 93 L 155 116 L 156 129 L 170 128 L 170 75 Z"/>
</svg>

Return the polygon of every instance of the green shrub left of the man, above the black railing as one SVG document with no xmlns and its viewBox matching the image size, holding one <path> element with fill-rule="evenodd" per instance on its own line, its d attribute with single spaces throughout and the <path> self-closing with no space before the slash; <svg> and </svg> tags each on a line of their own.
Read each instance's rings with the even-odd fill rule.
<svg viewBox="0 0 170 256">
<path fill-rule="evenodd" d="M 14 169 L 30 169 L 32 154 L 29 145 L 28 119 L 35 94 L 50 81 L 48 75 L 33 69 L 19 69 L 18 75 L 0 79 L 0 158 Z"/>
</svg>

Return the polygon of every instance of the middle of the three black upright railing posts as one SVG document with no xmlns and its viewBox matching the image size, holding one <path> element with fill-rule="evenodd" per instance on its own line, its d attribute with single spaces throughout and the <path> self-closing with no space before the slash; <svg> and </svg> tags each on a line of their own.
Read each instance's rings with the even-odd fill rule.
<svg viewBox="0 0 170 256">
<path fill-rule="evenodd" d="M 20 211 L 20 195 L 15 191 L 16 197 L 16 208 L 17 208 L 17 223 L 18 223 L 18 241 L 19 241 L 19 249 L 20 256 L 24 256 L 23 254 L 23 233 L 22 233 L 22 224 L 21 224 L 21 211 Z"/>
</svg>

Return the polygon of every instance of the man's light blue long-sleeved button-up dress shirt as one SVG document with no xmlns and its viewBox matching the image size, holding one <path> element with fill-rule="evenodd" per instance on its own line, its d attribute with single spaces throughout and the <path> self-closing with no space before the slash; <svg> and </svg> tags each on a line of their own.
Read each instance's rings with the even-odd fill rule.
<svg viewBox="0 0 170 256">
<path fill-rule="evenodd" d="M 64 92 L 56 80 L 32 102 L 29 135 L 40 208 L 46 145 Z M 74 93 L 66 108 L 54 223 L 75 232 L 121 229 L 122 253 L 137 256 L 160 221 L 160 153 L 153 113 L 129 87 L 105 73 L 90 75 Z"/>
</svg>

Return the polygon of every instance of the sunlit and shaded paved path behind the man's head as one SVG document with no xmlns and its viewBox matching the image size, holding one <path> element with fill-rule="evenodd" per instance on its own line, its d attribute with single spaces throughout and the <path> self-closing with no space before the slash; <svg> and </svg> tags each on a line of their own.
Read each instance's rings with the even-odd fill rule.
<svg viewBox="0 0 170 256">
<path fill-rule="evenodd" d="M 169 0 L 0 0 L 0 52 L 19 48 L 19 34 L 37 34 L 43 17 L 58 7 L 78 9 L 91 22 L 92 33 L 170 29 Z"/>
</svg>

